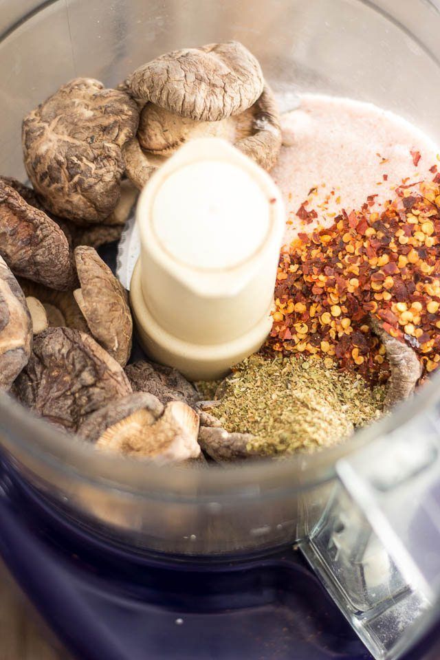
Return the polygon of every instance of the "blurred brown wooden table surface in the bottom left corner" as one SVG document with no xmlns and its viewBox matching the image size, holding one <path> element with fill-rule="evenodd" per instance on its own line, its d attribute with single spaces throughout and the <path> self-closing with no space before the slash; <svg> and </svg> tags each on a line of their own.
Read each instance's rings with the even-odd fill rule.
<svg viewBox="0 0 440 660">
<path fill-rule="evenodd" d="M 0 660 L 72 660 L 49 639 L 0 561 Z"/>
</svg>

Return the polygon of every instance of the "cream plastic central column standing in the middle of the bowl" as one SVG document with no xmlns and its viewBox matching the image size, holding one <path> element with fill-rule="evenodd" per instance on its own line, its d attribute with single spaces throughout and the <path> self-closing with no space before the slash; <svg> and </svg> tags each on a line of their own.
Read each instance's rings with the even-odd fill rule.
<svg viewBox="0 0 440 660">
<path fill-rule="evenodd" d="M 136 222 L 131 305 L 144 348 L 193 380 L 225 375 L 272 326 L 281 192 L 228 142 L 192 140 L 148 181 Z"/>
</svg>

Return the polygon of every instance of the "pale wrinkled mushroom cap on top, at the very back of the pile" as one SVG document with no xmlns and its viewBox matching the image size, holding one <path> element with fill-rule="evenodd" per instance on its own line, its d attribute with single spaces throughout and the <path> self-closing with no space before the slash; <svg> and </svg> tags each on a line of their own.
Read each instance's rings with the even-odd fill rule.
<svg viewBox="0 0 440 660">
<path fill-rule="evenodd" d="M 217 122 L 247 110 L 263 91 L 256 58 L 237 41 L 161 55 L 126 81 L 133 98 L 190 119 Z"/>
</svg>

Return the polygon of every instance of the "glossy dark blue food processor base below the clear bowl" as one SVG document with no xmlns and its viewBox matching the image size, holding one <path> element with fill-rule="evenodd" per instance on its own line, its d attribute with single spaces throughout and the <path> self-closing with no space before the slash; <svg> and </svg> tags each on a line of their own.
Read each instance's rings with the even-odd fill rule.
<svg viewBox="0 0 440 660">
<path fill-rule="evenodd" d="M 78 659 L 371 660 L 300 553 L 137 553 L 72 525 L 1 465 L 0 554 Z"/>
</svg>

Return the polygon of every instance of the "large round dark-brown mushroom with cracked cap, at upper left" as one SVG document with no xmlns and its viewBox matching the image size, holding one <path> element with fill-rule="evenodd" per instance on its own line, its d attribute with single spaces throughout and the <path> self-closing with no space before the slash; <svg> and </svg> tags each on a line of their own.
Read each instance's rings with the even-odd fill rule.
<svg viewBox="0 0 440 660">
<path fill-rule="evenodd" d="M 92 78 L 71 80 L 29 113 L 25 167 L 44 206 L 80 225 L 104 222 L 119 201 L 121 148 L 138 121 L 133 99 Z"/>
</svg>

